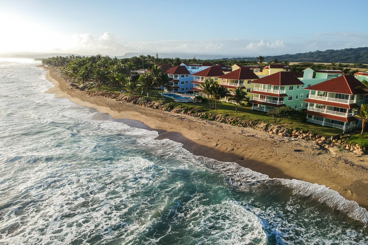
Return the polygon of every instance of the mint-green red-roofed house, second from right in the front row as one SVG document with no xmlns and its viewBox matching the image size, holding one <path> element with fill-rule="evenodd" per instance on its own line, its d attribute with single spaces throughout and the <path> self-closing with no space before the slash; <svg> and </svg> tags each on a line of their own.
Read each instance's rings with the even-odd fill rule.
<svg viewBox="0 0 368 245">
<path fill-rule="evenodd" d="M 281 71 L 252 82 L 252 110 L 268 112 L 272 108 L 288 106 L 304 108 L 305 92 L 301 74 Z M 300 78 L 300 79 L 299 79 Z"/>
</svg>

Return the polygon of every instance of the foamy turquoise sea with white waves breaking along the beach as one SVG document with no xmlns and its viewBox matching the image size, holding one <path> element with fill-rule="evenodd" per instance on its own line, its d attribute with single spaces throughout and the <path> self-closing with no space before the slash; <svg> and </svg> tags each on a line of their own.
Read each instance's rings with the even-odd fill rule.
<svg viewBox="0 0 368 245">
<path fill-rule="evenodd" d="M 368 244 L 336 191 L 194 156 L 0 60 L 0 244 Z"/>
</svg>

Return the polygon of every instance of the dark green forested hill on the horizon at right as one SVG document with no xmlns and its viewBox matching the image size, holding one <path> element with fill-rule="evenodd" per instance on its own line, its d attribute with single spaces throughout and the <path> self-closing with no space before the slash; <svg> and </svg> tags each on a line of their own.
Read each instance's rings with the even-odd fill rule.
<svg viewBox="0 0 368 245">
<path fill-rule="evenodd" d="M 329 49 L 326 51 L 314 51 L 308 53 L 283 54 L 263 57 L 264 61 L 273 61 L 275 58 L 280 61 L 289 62 L 336 62 L 336 63 L 361 63 L 368 64 L 368 47 L 345 48 L 340 50 Z M 255 60 L 255 57 L 231 58 L 229 60 Z"/>
</svg>

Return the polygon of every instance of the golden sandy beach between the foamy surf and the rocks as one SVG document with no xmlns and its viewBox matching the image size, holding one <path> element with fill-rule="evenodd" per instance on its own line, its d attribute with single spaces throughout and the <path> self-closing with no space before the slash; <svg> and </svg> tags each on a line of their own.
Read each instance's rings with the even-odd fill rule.
<svg viewBox="0 0 368 245">
<path fill-rule="evenodd" d="M 368 156 L 319 148 L 314 142 L 270 135 L 248 127 L 206 121 L 140 105 L 89 96 L 71 88 L 54 68 L 46 79 L 54 87 L 46 93 L 95 108 L 115 119 L 129 119 L 132 127 L 159 131 L 157 140 L 169 138 L 194 155 L 236 162 L 270 178 L 297 179 L 326 185 L 344 198 L 368 209 Z M 125 123 L 125 122 L 124 122 Z M 294 150 L 300 150 L 295 152 Z"/>
</svg>

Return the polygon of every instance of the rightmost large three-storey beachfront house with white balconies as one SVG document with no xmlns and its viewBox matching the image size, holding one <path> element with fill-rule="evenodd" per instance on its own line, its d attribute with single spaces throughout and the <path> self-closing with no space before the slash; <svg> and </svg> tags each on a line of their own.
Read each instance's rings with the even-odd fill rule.
<svg viewBox="0 0 368 245">
<path fill-rule="evenodd" d="M 336 127 L 345 131 L 356 129 L 361 122 L 354 118 L 354 109 L 367 99 L 356 89 L 362 83 L 351 75 L 343 75 L 305 88 L 309 96 L 307 122 Z"/>
</svg>

